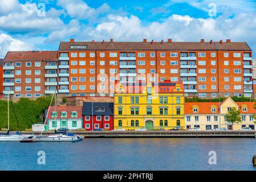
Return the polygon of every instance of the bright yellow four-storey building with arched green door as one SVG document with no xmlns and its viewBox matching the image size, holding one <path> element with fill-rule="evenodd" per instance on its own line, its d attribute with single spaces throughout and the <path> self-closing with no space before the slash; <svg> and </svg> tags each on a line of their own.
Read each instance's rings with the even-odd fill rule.
<svg viewBox="0 0 256 182">
<path fill-rule="evenodd" d="M 184 89 L 182 83 L 118 84 L 114 101 L 114 129 L 147 130 L 183 127 Z"/>
</svg>

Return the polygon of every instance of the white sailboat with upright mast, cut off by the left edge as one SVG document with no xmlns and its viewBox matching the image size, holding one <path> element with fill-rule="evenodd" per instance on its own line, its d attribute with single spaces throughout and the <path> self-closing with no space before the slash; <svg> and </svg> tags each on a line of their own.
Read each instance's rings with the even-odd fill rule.
<svg viewBox="0 0 256 182">
<path fill-rule="evenodd" d="M 6 133 L 0 133 L 0 142 L 19 142 L 24 137 L 28 137 L 28 136 L 32 137 L 33 135 L 22 135 L 21 132 L 17 132 L 16 134 L 10 134 L 10 109 L 9 109 L 9 98 L 10 97 L 9 97 L 9 93 L 7 93 L 7 97 L 8 97 L 7 98 L 8 129 L 7 129 Z"/>
</svg>

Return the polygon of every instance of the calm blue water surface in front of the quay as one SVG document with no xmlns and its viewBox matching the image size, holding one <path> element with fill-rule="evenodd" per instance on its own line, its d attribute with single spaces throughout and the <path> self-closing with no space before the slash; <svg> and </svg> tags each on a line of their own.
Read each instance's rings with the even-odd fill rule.
<svg viewBox="0 0 256 182">
<path fill-rule="evenodd" d="M 46 153 L 39 165 L 38 151 Z M 217 164 L 209 165 L 209 151 Z M 0 170 L 255 170 L 253 138 L 97 138 L 0 143 Z"/>
</svg>

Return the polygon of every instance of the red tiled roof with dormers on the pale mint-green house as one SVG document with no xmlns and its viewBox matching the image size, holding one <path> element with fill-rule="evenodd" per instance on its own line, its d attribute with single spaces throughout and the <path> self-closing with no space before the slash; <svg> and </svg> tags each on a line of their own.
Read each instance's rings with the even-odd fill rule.
<svg viewBox="0 0 256 182">
<path fill-rule="evenodd" d="M 56 111 L 57 111 L 56 119 L 65 119 L 65 118 L 60 117 L 60 113 L 62 111 L 67 112 L 67 118 L 72 118 L 71 117 L 71 112 L 72 111 L 77 111 L 78 112 L 78 117 L 77 118 L 83 118 L 82 117 L 82 109 L 83 109 L 82 106 L 57 106 L 56 107 Z M 49 114 L 47 116 L 47 119 L 54 119 L 54 118 L 51 117 L 51 112 L 54 112 L 54 106 L 50 107 L 50 111 L 49 111 Z"/>
</svg>

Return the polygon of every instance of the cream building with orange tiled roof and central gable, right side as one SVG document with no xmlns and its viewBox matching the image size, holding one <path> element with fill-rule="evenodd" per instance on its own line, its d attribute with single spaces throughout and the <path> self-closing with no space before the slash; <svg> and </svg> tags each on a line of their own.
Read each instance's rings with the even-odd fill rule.
<svg viewBox="0 0 256 182">
<path fill-rule="evenodd" d="M 239 130 L 243 127 L 255 129 L 253 114 L 254 102 L 234 102 L 232 98 L 226 98 L 222 102 L 186 102 L 185 122 L 186 130 L 192 127 L 200 127 L 201 130 L 214 130 L 226 127 L 229 130 Z M 226 122 L 225 115 L 232 107 L 237 108 L 242 117 L 241 123 Z"/>
</svg>

